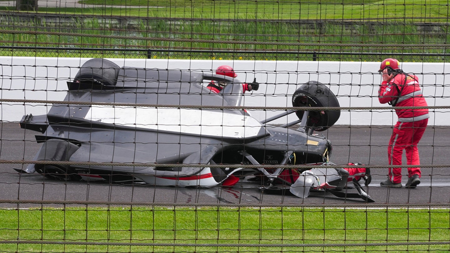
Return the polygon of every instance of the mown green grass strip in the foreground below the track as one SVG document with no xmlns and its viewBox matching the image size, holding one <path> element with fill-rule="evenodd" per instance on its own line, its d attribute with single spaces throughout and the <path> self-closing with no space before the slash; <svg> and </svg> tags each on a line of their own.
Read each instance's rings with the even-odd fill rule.
<svg viewBox="0 0 450 253">
<path fill-rule="evenodd" d="M 267 247 L 0 244 L 1 252 L 298 252 L 270 244 L 360 244 L 449 240 L 449 209 L 44 208 L 0 210 L 2 240 Z M 342 252 L 343 247 L 304 250 Z M 430 250 L 449 245 L 346 247 L 346 252 Z"/>
</svg>

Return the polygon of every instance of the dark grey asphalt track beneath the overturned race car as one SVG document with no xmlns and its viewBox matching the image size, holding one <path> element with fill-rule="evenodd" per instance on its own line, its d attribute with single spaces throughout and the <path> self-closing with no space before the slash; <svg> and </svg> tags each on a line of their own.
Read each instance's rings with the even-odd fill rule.
<svg viewBox="0 0 450 253">
<path fill-rule="evenodd" d="M 32 160 L 40 144 L 39 132 L 24 130 L 18 123 L 0 123 L 0 159 Z M 333 144 L 330 160 L 336 164 L 360 162 L 370 165 L 387 164 L 387 142 L 390 126 L 335 126 L 320 132 Z M 450 127 L 430 127 L 419 143 L 421 164 L 449 163 Z M 405 158 L 404 158 L 405 161 Z M 0 164 L 0 199 L 113 201 L 136 203 L 238 203 L 238 204 L 338 204 L 364 203 L 362 199 L 342 199 L 330 193 L 315 192 L 306 199 L 291 194 L 268 194 L 261 191 L 259 181 L 248 177 L 233 187 L 185 188 L 139 184 L 110 184 L 104 182 L 49 180 L 37 173 L 19 174 L 14 168 L 22 164 Z M 450 166 L 449 166 L 450 167 Z M 449 167 L 422 168 L 421 184 L 415 189 L 384 188 L 386 168 L 372 169 L 373 179 L 367 191 L 375 203 L 450 203 Z M 403 169 L 406 174 L 406 169 Z M 403 185 L 407 176 L 403 176 Z M 362 182 L 362 181 L 361 181 Z M 356 192 L 349 189 L 348 192 Z M 446 203 L 446 204 L 445 204 Z M 36 204 L 21 204 L 20 208 Z M 0 207 L 17 208 L 17 204 L 0 203 Z"/>
</svg>

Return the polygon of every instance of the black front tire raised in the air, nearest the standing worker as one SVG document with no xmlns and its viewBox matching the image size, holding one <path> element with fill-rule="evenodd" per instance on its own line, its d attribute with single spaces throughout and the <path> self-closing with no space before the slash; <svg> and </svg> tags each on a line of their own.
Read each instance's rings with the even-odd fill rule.
<svg viewBox="0 0 450 253">
<path fill-rule="evenodd" d="M 298 88 L 292 96 L 294 107 L 339 107 L 336 95 L 324 84 L 309 81 Z M 297 111 L 297 117 L 302 119 L 305 111 Z M 341 116 L 341 111 L 309 111 L 306 127 L 315 131 L 325 131 L 333 126 Z"/>
</svg>

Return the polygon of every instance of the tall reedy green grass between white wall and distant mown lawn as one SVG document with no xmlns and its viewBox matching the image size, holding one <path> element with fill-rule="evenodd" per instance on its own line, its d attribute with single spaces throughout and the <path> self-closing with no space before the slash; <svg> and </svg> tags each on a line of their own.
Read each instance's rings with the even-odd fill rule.
<svg viewBox="0 0 450 253">
<path fill-rule="evenodd" d="M 76 21 L 75 21 L 76 22 Z M 80 23 L 81 26 L 81 23 Z M 156 20 L 151 24 L 153 29 L 145 31 L 144 29 L 135 29 L 128 31 L 107 31 L 102 29 L 98 23 L 83 23 L 83 28 L 70 28 L 70 32 L 78 34 L 90 34 L 93 36 L 103 36 L 105 34 L 120 35 L 120 36 L 135 36 L 129 39 L 116 38 L 101 38 L 101 37 L 87 37 L 87 36 L 59 36 L 59 35 L 28 35 L 28 34 L 3 34 L 4 45 L 29 46 L 30 41 L 38 41 L 37 46 L 54 46 L 59 45 L 65 47 L 64 50 L 3 50 L 0 54 L 10 56 L 49 56 L 49 57 L 103 57 L 115 58 L 117 55 L 125 58 L 146 58 L 146 52 L 128 52 L 124 54 L 123 51 L 117 50 L 114 52 L 102 51 L 101 48 L 141 48 L 141 49 L 215 49 L 215 50 L 254 50 L 267 51 L 276 50 L 277 54 L 252 54 L 240 53 L 235 54 L 180 54 L 180 53 L 157 53 L 152 57 L 155 59 L 245 59 L 245 60 L 311 60 L 311 54 L 288 54 L 279 51 L 321 51 L 321 52 L 390 52 L 392 57 L 403 59 L 402 61 L 430 61 L 441 62 L 450 60 L 449 57 L 437 58 L 431 56 L 425 57 L 407 57 L 402 56 L 402 53 L 449 53 L 449 49 L 440 48 L 360 48 L 346 46 L 349 44 L 371 44 L 371 43 L 389 43 L 389 44 L 410 44 L 417 43 L 446 43 L 450 41 L 450 34 L 446 35 L 432 35 L 423 34 L 417 31 L 415 25 L 384 25 L 382 27 L 374 27 L 371 25 L 359 25 L 354 29 L 346 29 L 340 24 L 325 23 L 320 27 L 298 27 L 293 23 L 233 23 L 232 25 L 213 24 L 210 21 L 178 22 L 167 23 L 166 21 Z M 144 26 L 144 24 L 140 24 Z M 60 31 L 61 28 L 53 28 L 55 32 Z M 401 29 L 399 33 L 398 29 Z M 17 30 L 17 29 L 16 29 Z M 47 30 L 52 31 L 49 27 Z M 170 32 L 168 32 L 170 31 Z M 190 31 L 190 32 L 188 32 Z M 174 42 L 174 41 L 146 41 L 144 38 L 164 38 L 175 37 L 183 39 L 199 39 L 210 40 L 214 38 L 216 41 L 235 41 L 236 44 L 230 42 L 229 44 L 220 43 L 205 43 L 205 42 Z M 142 39 L 140 39 L 142 38 Z M 273 45 L 248 45 L 239 44 L 239 41 L 259 41 L 270 42 Z M 298 46 L 298 45 L 276 45 L 278 42 L 299 42 L 299 43 L 315 43 L 322 46 Z M 341 46 L 325 46 L 325 44 L 335 43 Z M 32 45 L 32 44 L 31 44 Z M 73 47 L 88 47 L 99 48 L 98 51 L 78 51 L 71 50 Z M 342 60 L 342 61 L 380 61 L 384 56 L 368 55 L 368 56 L 354 56 L 348 57 L 345 55 L 322 55 L 321 60 Z"/>
</svg>

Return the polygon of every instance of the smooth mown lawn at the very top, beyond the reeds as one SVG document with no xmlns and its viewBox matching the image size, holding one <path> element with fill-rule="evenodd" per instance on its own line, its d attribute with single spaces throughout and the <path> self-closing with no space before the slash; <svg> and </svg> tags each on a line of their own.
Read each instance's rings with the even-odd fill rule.
<svg viewBox="0 0 450 253">
<path fill-rule="evenodd" d="M 142 6 L 136 8 L 66 9 L 65 13 L 170 18 L 361 19 L 444 18 L 447 0 L 81 0 L 89 5 Z M 40 11 L 60 12 L 42 8 Z"/>
</svg>

